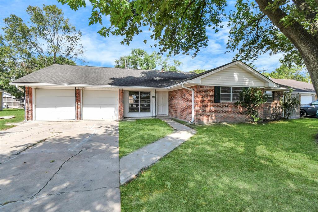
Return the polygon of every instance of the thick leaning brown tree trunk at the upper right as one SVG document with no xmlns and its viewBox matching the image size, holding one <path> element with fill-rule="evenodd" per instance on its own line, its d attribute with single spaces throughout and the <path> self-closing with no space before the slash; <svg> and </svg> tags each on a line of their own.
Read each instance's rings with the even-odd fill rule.
<svg viewBox="0 0 318 212">
<path fill-rule="evenodd" d="M 283 26 L 283 23 L 280 22 L 280 20 L 287 15 L 284 11 L 279 7 L 274 10 L 265 10 L 269 3 L 273 4 L 272 0 L 256 0 L 256 3 L 259 5 L 259 9 L 280 29 L 280 32 L 282 32 L 301 53 L 315 88 L 315 92 L 318 94 L 317 39 L 296 21 L 287 27 Z"/>
</svg>

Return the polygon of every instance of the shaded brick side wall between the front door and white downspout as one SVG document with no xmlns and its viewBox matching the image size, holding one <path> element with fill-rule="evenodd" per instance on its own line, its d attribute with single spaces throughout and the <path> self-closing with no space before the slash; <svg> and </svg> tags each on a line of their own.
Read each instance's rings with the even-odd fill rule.
<svg viewBox="0 0 318 212">
<path fill-rule="evenodd" d="M 185 88 L 169 91 L 169 116 L 185 121 L 192 119 L 192 92 Z"/>
</svg>

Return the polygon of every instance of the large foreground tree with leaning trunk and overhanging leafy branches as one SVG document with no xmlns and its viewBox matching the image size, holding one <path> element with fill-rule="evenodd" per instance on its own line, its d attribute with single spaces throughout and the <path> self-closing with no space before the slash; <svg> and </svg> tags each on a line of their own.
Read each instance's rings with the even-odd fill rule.
<svg viewBox="0 0 318 212">
<path fill-rule="evenodd" d="M 237 0 L 235 10 L 226 0 L 89 1 L 93 5 L 89 24 L 102 24 L 106 16 L 110 20 L 100 35 L 123 36 L 121 43 L 129 44 L 135 35 L 149 30 L 161 53 L 195 56 L 208 45 L 207 30 L 218 32 L 227 21 L 229 51 L 238 51 L 234 60 L 283 53 L 282 62 L 306 65 L 318 93 L 317 0 Z M 73 10 L 86 6 L 85 0 L 59 2 Z"/>
</svg>

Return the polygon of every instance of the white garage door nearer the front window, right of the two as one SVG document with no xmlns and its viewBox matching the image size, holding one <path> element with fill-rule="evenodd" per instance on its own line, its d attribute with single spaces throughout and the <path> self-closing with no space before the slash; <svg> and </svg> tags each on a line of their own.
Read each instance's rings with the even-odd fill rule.
<svg viewBox="0 0 318 212">
<path fill-rule="evenodd" d="M 83 119 L 118 119 L 117 91 L 84 90 Z"/>
</svg>

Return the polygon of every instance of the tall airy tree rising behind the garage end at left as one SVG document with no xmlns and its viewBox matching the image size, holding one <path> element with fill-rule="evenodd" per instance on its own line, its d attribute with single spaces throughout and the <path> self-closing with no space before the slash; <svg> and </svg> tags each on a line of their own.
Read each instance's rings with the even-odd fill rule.
<svg viewBox="0 0 318 212">
<path fill-rule="evenodd" d="M 0 35 L 0 88 L 12 95 L 23 93 L 9 82 L 53 63 L 76 64 L 84 48 L 80 44 L 81 32 L 64 18 L 56 5 L 28 6 L 30 20 L 11 14 L 4 18 Z"/>
</svg>

